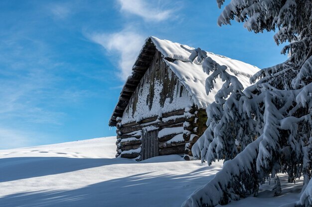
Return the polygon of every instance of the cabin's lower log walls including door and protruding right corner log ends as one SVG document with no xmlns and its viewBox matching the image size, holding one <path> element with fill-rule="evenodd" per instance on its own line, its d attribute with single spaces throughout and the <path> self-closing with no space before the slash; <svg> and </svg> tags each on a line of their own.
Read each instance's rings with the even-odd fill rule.
<svg viewBox="0 0 312 207">
<path fill-rule="evenodd" d="M 183 113 L 183 115 L 181 115 Z M 177 114 L 177 115 L 174 115 Z M 171 117 L 168 117 L 171 115 Z M 148 159 L 158 155 L 180 154 L 184 155 L 184 159 L 192 159 L 191 147 L 197 139 L 206 130 L 207 115 L 205 110 L 191 108 L 188 112 L 181 110 L 163 114 L 162 119 L 154 120 L 148 118 L 142 120 L 144 123 L 129 123 L 124 127 L 120 123 L 117 129 L 117 154 L 125 158 L 137 158 L 138 160 Z M 164 121 L 163 121 L 164 120 Z M 165 133 L 163 136 L 157 136 L 161 130 L 168 131 L 172 129 L 172 133 Z M 149 130 L 150 129 L 150 130 Z M 153 132 L 149 136 L 143 136 Z M 178 139 L 181 137 L 182 139 Z M 134 150 L 141 148 L 141 153 Z M 126 153 L 129 151 L 129 153 Z M 123 153 L 122 153 L 123 152 Z"/>
</svg>

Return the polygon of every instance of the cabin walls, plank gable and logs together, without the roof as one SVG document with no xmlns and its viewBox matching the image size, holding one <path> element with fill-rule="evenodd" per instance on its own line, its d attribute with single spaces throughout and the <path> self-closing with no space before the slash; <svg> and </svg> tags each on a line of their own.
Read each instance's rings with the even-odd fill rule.
<svg viewBox="0 0 312 207">
<path fill-rule="evenodd" d="M 191 146 L 204 132 L 206 120 L 205 110 L 193 105 L 185 87 L 156 51 L 123 117 L 117 119 L 116 156 L 144 160 L 181 154 L 189 160 Z"/>
</svg>

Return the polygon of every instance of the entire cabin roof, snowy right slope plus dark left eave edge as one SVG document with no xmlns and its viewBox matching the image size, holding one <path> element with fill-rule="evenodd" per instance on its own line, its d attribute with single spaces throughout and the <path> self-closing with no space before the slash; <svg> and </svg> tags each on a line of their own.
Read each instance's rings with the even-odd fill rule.
<svg viewBox="0 0 312 207">
<path fill-rule="evenodd" d="M 122 112 L 127 107 L 129 99 L 136 88 L 136 86 L 134 87 L 133 85 L 139 84 L 140 79 L 149 68 L 156 50 L 162 54 L 167 66 L 173 71 L 173 73 L 179 78 L 180 82 L 188 90 L 194 104 L 197 105 L 198 108 L 206 108 L 214 101 L 214 96 L 221 88 L 223 81 L 221 78 L 216 79 L 214 89 L 212 89 L 208 95 L 206 94 L 205 81 L 209 75 L 203 71 L 202 63 L 193 60 L 193 52 L 195 51 L 195 48 L 174 43 L 169 40 L 160 40 L 156 37 L 149 37 L 146 39 L 135 65 L 133 66 L 132 75 L 127 79 L 121 92 L 120 100 L 109 123 L 110 126 L 116 126 L 116 118 L 118 116 L 122 116 Z M 236 75 L 243 84 L 244 88 L 250 85 L 249 78 L 260 70 L 255 66 L 241 61 L 215 55 L 210 52 L 206 53 L 208 57 L 217 62 L 219 65 L 227 66 L 227 72 L 232 75 Z M 125 93 L 127 91 L 132 91 L 132 93 Z M 128 102 L 125 97 L 129 97 Z"/>
</svg>

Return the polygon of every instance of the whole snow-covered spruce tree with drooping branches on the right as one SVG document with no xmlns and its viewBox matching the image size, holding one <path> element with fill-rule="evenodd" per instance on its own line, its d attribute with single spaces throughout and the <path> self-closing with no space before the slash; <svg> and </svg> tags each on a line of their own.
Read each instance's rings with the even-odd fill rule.
<svg viewBox="0 0 312 207">
<path fill-rule="evenodd" d="M 224 1 L 217 0 L 219 7 Z M 243 92 L 229 87 L 231 82 L 224 79 L 216 101 L 207 108 L 208 128 L 192 152 L 208 164 L 223 157 L 231 160 L 182 206 L 214 207 L 257 194 L 268 176 L 283 172 L 288 173 L 289 182 L 304 177 L 297 206 L 311 207 L 312 1 L 231 0 L 218 24 L 234 19 L 256 33 L 277 30 L 277 44 L 290 42 L 282 51 L 290 58 L 260 70 L 251 78 L 254 84 Z M 207 59 L 204 63 L 205 71 L 224 75 L 217 72 L 224 71 L 222 66 Z"/>
</svg>

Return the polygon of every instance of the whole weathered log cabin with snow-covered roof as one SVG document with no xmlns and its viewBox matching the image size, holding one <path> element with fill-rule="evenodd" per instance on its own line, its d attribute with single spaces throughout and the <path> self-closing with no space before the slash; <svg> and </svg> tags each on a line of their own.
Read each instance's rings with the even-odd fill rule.
<svg viewBox="0 0 312 207">
<path fill-rule="evenodd" d="M 192 159 L 191 147 L 206 127 L 206 108 L 222 86 L 217 79 L 207 95 L 208 74 L 198 53 L 205 53 L 244 87 L 259 69 L 187 45 L 149 37 L 128 77 L 109 126 L 117 127 L 116 157 L 145 160 L 179 154 Z M 196 59 L 197 58 L 197 59 Z"/>
</svg>

